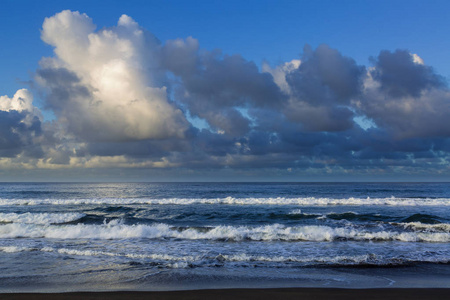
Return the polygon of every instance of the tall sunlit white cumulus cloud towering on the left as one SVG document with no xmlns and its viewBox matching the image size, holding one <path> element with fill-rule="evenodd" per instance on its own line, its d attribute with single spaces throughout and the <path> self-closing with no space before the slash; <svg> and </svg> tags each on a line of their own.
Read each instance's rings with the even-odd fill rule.
<svg viewBox="0 0 450 300">
<path fill-rule="evenodd" d="M 41 37 L 55 57 L 41 60 L 37 79 L 70 133 L 97 141 L 183 137 L 188 122 L 160 83 L 158 42 L 132 18 L 95 31 L 86 14 L 66 10 L 45 19 Z"/>
</svg>

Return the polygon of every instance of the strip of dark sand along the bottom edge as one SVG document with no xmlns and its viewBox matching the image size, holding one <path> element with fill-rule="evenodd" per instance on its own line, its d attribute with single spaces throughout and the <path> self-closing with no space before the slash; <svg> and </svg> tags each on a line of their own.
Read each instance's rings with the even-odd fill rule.
<svg viewBox="0 0 450 300">
<path fill-rule="evenodd" d="M 450 299 L 447 289 L 221 289 L 167 292 L 76 292 L 76 293 L 11 293 L 0 294 L 0 299 L 357 299 L 357 300 L 401 300 L 401 299 Z"/>
</svg>

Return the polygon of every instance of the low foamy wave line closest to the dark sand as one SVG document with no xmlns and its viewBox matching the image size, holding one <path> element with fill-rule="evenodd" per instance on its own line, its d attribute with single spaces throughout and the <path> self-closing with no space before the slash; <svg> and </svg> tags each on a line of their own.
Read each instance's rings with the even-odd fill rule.
<svg viewBox="0 0 450 300">
<path fill-rule="evenodd" d="M 435 256 L 430 257 L 429 255 L 415 254 L 414 258 L 408 257 L 385 257 L 383 255 L 375 255 L 373 253 L 364 255 L 340 255 L 340 256 L 268 256 L 268 255 L 255 255 L 248 253 L 240 254 L 219 254 L 219 255 L 185 255 L 176 256 L 169 254 L 158 254 L 158 253 L 114 253 L 106 251 L 96 251 L 96 250 L 77 250 L 77 249 L 67 249 L 67 248 L 26 248 L 26 247 L 15 247 L 15 246 L 5 246 L 0 247 L 0 252 L 6 253 L 17 253 L 25 251 L 40 251 L 40 252 L 52 252 L 59 253 L 70 256 L 107 256 L 107 257 L 119 257 L 119 258 L 130 258 L 145 260 L 151 262 L 170 262 L 172 264 L 166 264 L 168 267 L 172 268 L 185 268 L 195 266 L 217 266 L 217 263 L 274 263 L 274 264 L 291 264 L 297 263 L 301 265 L 331 265 L 331 266 L 359 266 L 359 265 L 405 265 L 411 263 L 439 263 L 447 264 L 450 263 L 450 258 L 448 256 Z M 178 264 L 173 264 L 173 263 Z"/>
</svg>

